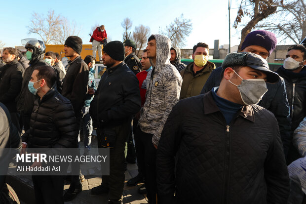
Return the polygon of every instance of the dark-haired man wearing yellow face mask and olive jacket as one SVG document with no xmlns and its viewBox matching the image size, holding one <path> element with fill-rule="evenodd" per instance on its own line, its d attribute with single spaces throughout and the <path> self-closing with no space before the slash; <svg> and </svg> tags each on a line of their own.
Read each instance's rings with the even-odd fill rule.
<svg viewBox="0 0 306 204">
<path fill-rule="evenodd" d="M 200 94 L 203 85 L 216 68 L 214 63 L 208 61 L 208 55 L 208 44 L 199 42 L 193 46 L 193 62 L 181 71 L 183 84 L 180 100 Z"/>
</svg>

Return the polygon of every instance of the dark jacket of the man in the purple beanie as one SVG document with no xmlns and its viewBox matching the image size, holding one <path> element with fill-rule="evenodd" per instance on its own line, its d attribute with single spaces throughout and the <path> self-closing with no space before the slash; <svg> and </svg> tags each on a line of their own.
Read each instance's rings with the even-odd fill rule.
<svg viewBox="0 0 306 204">
<path fill-rule="evenodd" d="M 207 93 L 221 82 L 222 67 L 215 69 L 205 83 L 201 94 Z M 287 100 L 285 81 L 280 78 L 277 83 L 267 83 L 268 91 L 257 104 L 271 111 L 279 126 L 280 136 L 283 143 L 285 158 L 287 158 L 291 143 L 291 119 L 289 115 L 289 103 Z"/>
</svg>

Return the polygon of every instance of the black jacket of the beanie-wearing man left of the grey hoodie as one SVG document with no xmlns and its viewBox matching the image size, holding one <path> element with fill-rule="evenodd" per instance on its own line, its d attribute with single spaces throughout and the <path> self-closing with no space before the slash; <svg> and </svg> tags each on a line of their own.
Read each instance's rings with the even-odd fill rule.
<svg viewBox="0 0 306 204">
<path fill-rule="evenodd" d="M 125 63 L 108 68 L 90 103 L 94 126 L 120 125 L 141 108 L 139 82 Z M 103 122 L 102 122 L 103 121 Z"/>
</svg>

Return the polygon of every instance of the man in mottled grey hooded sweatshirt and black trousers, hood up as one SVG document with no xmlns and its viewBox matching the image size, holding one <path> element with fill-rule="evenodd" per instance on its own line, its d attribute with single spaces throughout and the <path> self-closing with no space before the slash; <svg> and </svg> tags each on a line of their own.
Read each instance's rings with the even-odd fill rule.
<svg viewBox="0 0 306 204">
<path fill-rule="evenodd" d="M 172 107 L 179 101 L 182 77 L 170 63 L 171 41 L 162 35 L 148 39 L 147 57 L 153 67 L 147 75 L 147 98 L 140 113 L 135 140 L 142 150 L 137 152 L 138 167 L 145 176 L 150 204 L 156 201 L 156 149 L 163 126 Z M 137 137 L 137 139 L 136 139 Z"/>
</svg>

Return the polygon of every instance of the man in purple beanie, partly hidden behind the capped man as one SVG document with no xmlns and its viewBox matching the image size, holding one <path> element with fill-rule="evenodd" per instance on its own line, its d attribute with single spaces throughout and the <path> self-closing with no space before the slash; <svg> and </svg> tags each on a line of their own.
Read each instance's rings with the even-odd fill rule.
<svg viewBox="0 0 306 204">
<path fill-rule="evenodd" d="M 252 52 L 267 59 L 275 49 L 277 43 L 276 36 L 269 31 L 253 31 L 249 33 L 242 43 L 241 51 Z M 205 83 L 201 93 L 210 91 L 213 87 L 219 86 L 222 75 L 222 67 L 214 70 L 207 82 Z M 290 136 L 290 116 L 289 103 L 287 100 L 285 82 L 280 78 L 277 83 L 267 83 L 268 92 L 263 96 L 257 105 L 271 111 L 277 119 L 279 131 L 284 147 L 285 158 L 289 151 L 291 143 Z"/>
</svg>

